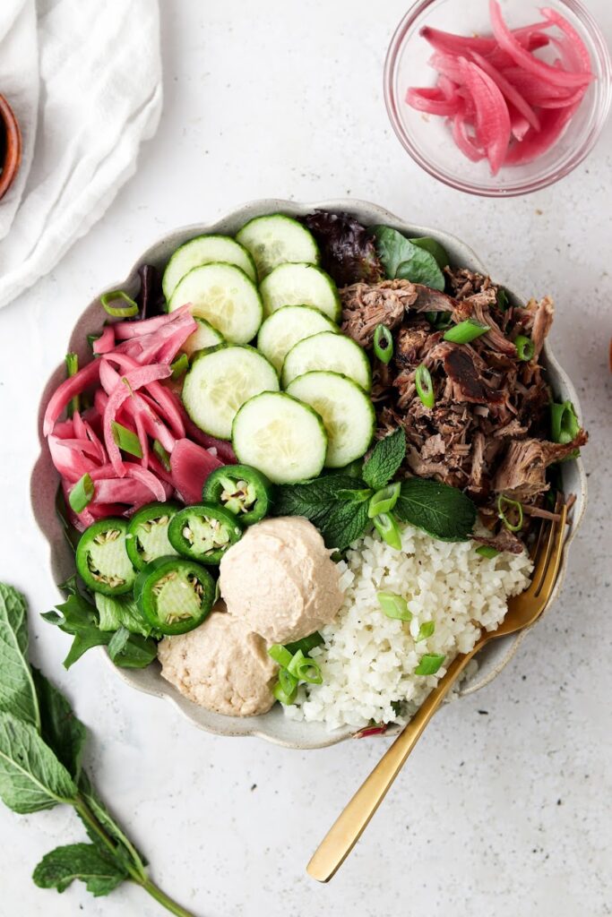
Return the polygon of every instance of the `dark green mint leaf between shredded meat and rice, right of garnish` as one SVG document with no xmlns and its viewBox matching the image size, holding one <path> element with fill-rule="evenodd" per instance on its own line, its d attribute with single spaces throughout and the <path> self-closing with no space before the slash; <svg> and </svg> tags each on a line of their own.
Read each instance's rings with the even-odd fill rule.
<svg viewBox="0 0 612 917">
<path fill-rule="evenodd" d="M 422 478 L 402 482 L 394 512 L 440 541 L 467 541 L 476 521 L 476 507 L 462 491 Z"/>
</svg>

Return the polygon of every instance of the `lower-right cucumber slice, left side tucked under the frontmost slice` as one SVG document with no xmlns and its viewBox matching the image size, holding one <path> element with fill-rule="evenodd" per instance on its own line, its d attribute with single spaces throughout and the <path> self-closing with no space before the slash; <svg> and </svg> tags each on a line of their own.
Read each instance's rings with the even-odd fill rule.
<svg viewBox="0 0 612 917">
<path fill-rule="evenodd" d="M 287 394 L 309 404 L 328 434 L 326 468 L 344 468 L 368 450 L 376 428 L 373 403 L 360 385 L 338 372 L 306 372 Z"/>
</svg>

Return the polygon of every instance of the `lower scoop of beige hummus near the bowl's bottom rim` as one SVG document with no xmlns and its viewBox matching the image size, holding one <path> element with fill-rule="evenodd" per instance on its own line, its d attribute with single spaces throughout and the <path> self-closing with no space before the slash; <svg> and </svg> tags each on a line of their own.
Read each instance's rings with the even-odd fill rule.
<svg viewBox="0 0 612 917">
<path fill-rule="evenodd" d="M 157 655 L 163 678 L 208 710 L 257 716 L 273 705 L 278 667 L 261 636 L 226 613 L 223 602 L 195 630 L 164 637 Z"/>
</svg>

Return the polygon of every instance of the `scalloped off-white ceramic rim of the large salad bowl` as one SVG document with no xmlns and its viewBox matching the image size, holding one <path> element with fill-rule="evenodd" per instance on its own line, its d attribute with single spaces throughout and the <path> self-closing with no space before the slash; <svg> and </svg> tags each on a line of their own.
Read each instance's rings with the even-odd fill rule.
<svg viewBox="0 0 612 917">
<path fill-rule="evenodd" d="M 281 201 L 275 199 L 253 201 L 250 204 L 244 204 L 237 210 L 232 211 L 216 223 L 196 224 L 195 226 L 184 226 L 176 229 L 167 236 L 155 242 L 149 249 L 139 256 L 137 263 L 132 271 L 129 272 L 128 278 L 116 283 L 109 282 L 106 289 L 122 289 L 132 295 L 139 291 L 139 276 L 137 269 L 140 264 L 154 264 L 157 268 L 162 268 L 172 251 L 189 238 L 201 235 L 203 233 L 226 233 L 233 235 L 240 226 L 243 226 L 251 217 L 261 214 L 271 214 L 283 212 L 289 215 L 304 215 L 315 208 L 324 208 L 333 211 L 348 211 L 354 215 L 366 226 L 373 226 L 384 223 L 395 226 L 397 229 L 406 233 L 408 237 L 414 236 L 433 236 L 438 238 L 445 249 L 448 251 L 451 263 L 458 266 L 467 267 L 473 271 L 487 273 L 483 263 L 476 257 L 473 250 L 464 245 L 458 238 L 451 236 L 448 232 L 441 229 L 431 229 L 427 226 L 412 226 L 401 220 L 399 217 L 389 213 L 376 204 L 368 204 L 365 201 L 355 200 L 336 200 L 320 201 L 315 204 L 296 204 L 294 201 Z M 511 284 L 505 282 L 505 278 L 496 277 L 496 281 L 503 282 L 504 286 L 511 295 Z M 83 362 L 90 358 L 91 352 L 86 344 L 86 336 L 89 333 L 99 331 L 104 321 L 105 312 L 100 304 L 99 298 L 87 306 L 83 315 L 80 316 L 72 330 L 68 350 L 76 352 Z M 562 400 L 569 399 L 573 401 L 576 410 L 579 411 L 578 399 L 573 389 L 572 382 L 563 372 L 556 359 L 551 354 L 548 346 L 544 351 L 546 365 L 549 370 L 552 388 L 557 397 Z M 39 524 L 43 534 L 47 537 L 50 547 L 50 566 L 53 577 L 56 582 L 61 582 L 74 572 L 74 561 L 70 547 L 61 532 L 61 525 L 55 514 L 55 493 L 58 486 L 58 475 L 53 468 L 50 460 L 49 450 L 42 436 L 42 415 L 50 398 L 51 392 L 55 390 L 58 384 L 64 378 L 64 365 L 61 363 L 57 370 L 51 376 L 40 400 L 39 406 L 39 438 L 40 438 L 40 456 L 32 471 L 31 477 L 31 499 L 34 516 Z M 568 462 L 562 465 L 563 487 L 566 493 L 576 495 L 576 503 L 573 507 L 573 525 L 567 536 L 565 549 L 562 558 L 562 567 L 559 579 L 551 596 L 551 603 L 558 595 L 562 580 L 567 569 L 567 550 L 570 542 L 575 536 L 579 525 L 584 516 L 586 505 L 586 477 L 584 474 L 583 463 L 580 459 Z M 549 605 L 550 607 L 550 605 Z M 485 684 L 495 678 L 502 668 L 517 651 L 518 645 L 525 637 L 525 632 L 516 636 L 502 637 L 495 640 L 479 654 L 478 670 L 472 678 L 466 679 L 462 684 L 460 695 L 470 694 L 478 691 Z M 66 638 L 68 640 L 68 638 Z M 105 653 L 106 650 L 102 649 Z M 86 661 L 79 663 L 86 665 Z M 157 662 L 144 669 L 117 668 L 109 659 L 109 665 L 122 679 L 137 688 L 139 691 L 145 691 L 154 694 L 157 697 L 163 697 L 171 701 L 178 710 L 187 717 L 193 724 L 205 729 L 210 733 L 218 735 L 257 735 L 260 738 L 267 739 L 269 742 L 277 745 L 291 748 L 322 748 L 325 746 L 335 745 L 343 739 L 351 738 L 354 731 L 351 728 L 338 729 L 334 732 L 328 732 L 324 724 L 302 723 L 289 720 L 284 716 L 280 705 L 276 704 L 270 713 L 257 717 L 230 717 L 222 716 L 218 713 L 211 713 L 204 707 L 198 707 L 194 703 L 187 701 L 176 691 L 172 685 L 161 678 L 160 667 Z M 389 733 L 387 733 L 388 735 Z"/>
</svg>

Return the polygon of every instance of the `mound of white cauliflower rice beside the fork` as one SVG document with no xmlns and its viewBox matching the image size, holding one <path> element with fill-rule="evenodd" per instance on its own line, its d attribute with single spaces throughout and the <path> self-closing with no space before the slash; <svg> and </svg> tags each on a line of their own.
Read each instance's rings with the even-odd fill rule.
<svg viewBox="0 0 612 917">
<path fill-rule="evenodd" d="M 476 547 L 473 541 L 436 541 L 411 525 L 402 532 L 401 553 L 375 535 L 355 542 L 339 565 L 344 602 L 321 630 L 325 646 L 310 652 L 323 683 L 301 688 L 285 714 L 325 722 L 328 729 L 406 723 L 452 659 L 473 648 L 483 627 L 495 630 L 507 598 L 529 585 L 527 552 L 488 559 L 476 554 Z M 388 618 L 376 598 L 379 591 L 405 598 L 412 620 Z M 416 643 L 426 621 L 435 623 L 434 633 Z M 415 675 L 426 653 L 446 659 L 435 675 Z"/>
</svg>

